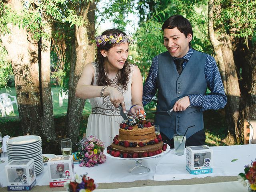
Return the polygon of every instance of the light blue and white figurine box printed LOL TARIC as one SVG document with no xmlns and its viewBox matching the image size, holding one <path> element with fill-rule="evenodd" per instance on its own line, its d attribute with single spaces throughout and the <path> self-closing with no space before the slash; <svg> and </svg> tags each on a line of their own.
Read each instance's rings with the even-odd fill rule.
<svg viewBox="0 0 256 192">
<path fill-rule="evenodd" d="M 186 170 L 195 175 L 212 173 L 212 150 L 207 145 L 186 147 Z"/>
</svg>

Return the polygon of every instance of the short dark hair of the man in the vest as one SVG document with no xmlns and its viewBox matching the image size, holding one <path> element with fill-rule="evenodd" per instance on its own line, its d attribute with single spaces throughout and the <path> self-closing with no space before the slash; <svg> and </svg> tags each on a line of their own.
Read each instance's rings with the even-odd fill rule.
<svg viewBox="0 0 256 192">
<path fill-rule="evenodd" d="M 191 23 L 189 22 L 188 19 L 184 18 L 181 15 L 173 15 L 170 16 L 162 25 L 162 30 L 164 29 L 173 29 L 173 28 L 178 28 L 180 32 L 182 32 L 185 37 L 188 37 L 188 34 L 192 34 L 193 37 L 193 30 Z M 189 42 L 189 46 L 191 46 Z"/>
</svg>

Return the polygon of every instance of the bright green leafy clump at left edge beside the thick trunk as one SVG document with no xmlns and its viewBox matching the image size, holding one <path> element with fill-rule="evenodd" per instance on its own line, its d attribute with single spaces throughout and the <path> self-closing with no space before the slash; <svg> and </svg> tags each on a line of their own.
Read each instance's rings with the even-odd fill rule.
<svg viewBox="0 0 256 192">
<path fill-rule="evenodd" d="M 8 54 L 0 43 L 0 89 L 7 88 L 7 81 L 12 73 L 12 65 L 7 60 Z"/>
</svg>

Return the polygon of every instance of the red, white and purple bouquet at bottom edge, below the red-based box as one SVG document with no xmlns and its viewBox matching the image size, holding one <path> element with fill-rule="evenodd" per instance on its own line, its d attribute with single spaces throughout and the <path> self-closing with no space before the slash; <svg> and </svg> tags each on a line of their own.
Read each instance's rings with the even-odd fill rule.
<svg viewBox="0 0 256 192">
<path fill-rule="evenodd" d="M 69 192 L 91 192 L 96 188 L 96 184 L 93 179 L 90 179 L 86 175 L 76 175 L 74 181 L 68 180 L 64 183 L 64 187 Z"/>
</svg>

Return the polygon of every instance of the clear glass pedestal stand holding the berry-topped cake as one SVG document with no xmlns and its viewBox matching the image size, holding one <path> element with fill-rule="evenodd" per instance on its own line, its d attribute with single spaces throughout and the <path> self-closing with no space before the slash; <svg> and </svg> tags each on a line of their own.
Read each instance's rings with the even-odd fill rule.
<svg viewBox="0 0 256 192">
<path fill-rule="evenodd" d="M 110 154 L 107 153 L 107 150 L 105 149 L 104 150 L 104 154 L 107 156 L 107 157 L 110 157 L 110 158 L 115 158 L 115 159 L 120 159 L 120 160 L 134 160 L 135 161 L 135 166 L 133 168 L 130 168 L 129 169 L 129 172 L 131 174 L 135 174 L 135 175 L 143 175 L 143 174 L 146 174 L 148 172 L 150 172 L 150 168 L 142 165 L 142 160 L 144 159 L 150 159 L 150 158 L 157 158 L 157 157 L 160 157 L 166 153 L 170 152 L 170 146 L 167 145 L 167 148 L 166 148 L 166 151 L 163 151 L 162 153 L 160 154 L 157 154 L 157 155 L 154 155 L 154 156 L 151 156 L 151 157 L 142 157 L 142 158 L 120 158 L 120 157 L 114 157 L 114 156 L 111 156 Z"/>
</svg>

